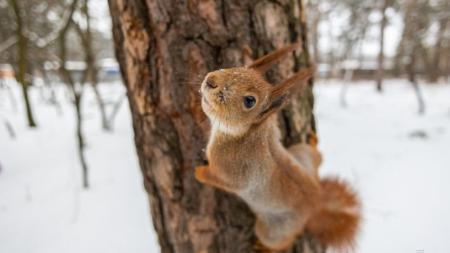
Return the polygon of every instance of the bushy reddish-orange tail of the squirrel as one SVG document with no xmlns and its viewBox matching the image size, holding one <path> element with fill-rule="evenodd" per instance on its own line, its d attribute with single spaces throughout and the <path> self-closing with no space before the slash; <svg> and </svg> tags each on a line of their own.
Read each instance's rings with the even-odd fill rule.
<svg viewBox="0 0 450 253">
<path fill-rule="evenodd" d="M 312 214 L 306 229 L 327 247 L 352 248 L 361 222 L 359 199 L 338 179 L 321 179 L 320 184 L 320 208 Z"/>
</svg>

